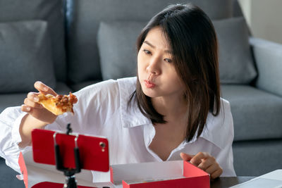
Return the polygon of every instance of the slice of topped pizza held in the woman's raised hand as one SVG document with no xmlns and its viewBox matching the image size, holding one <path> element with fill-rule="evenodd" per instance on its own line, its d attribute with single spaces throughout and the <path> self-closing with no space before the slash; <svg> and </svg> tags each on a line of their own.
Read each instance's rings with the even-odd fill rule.
<svg viewBox="0 0 282 188">
<path fill-rule="evenodd" d="M 78 102 L 78 98 L 71 92 L 69 95 L 58 94 L 57 96 L 51 94 L 39 94 L 38 97 L 38 103 L 42 104 L 44 108 L 55 115 L 61 115 L 65 112 L 74 113 L 73 104 Z"/>
</svg>

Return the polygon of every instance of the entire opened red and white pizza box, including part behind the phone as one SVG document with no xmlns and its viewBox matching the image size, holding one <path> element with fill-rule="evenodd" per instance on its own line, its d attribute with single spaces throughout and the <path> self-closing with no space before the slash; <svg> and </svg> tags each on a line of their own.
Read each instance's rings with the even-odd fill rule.
<svg viewBox="0 0 282 188">
<path fill-rule="evenodd" d="M 32 160 L 32 152 L 25 153 L 24 158 L 25 159 L 22 160 L 23 164 L 21 165 L 21 171 L 24 172 L 23 176 L 25 178 L 23 179 L 25 179 L 25 187 L 33 188 L 33 186 L 37 187 L 39 185 L 39 187 L 42 187 L 42 185 L 47 185 L 47 182 L 48 185 L 51 182 L 56 182 L 57 184 L 62 184 L 64 182 L 65 177 L 63 173 L 56 170 L 54 165 L 35 163 Z M 75 175 L 75 177 L 76 180 L 78 180 L 78 185 L 80 185 L 80 187 L 210 187 L 209 174 L 186 161 L 111 165 L 110 174 L 111 181 L 109 182 L 93 183 L 90 170 L 82 170 L 82 172 Z"/>
</svg>

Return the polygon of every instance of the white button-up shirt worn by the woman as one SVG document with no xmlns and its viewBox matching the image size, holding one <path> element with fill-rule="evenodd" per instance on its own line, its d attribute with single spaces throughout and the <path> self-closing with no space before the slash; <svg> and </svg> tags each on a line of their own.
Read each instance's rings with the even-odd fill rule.
<svg viewBox="0 0 282 188">
<path fill-rule="evenodd" d="M 64 113 L 46 126 L 49 130 L 66 131 L 71 123 L 73 132 L 102 135 L 109 139 L 110 165 L 162 161 L 149 149 L 155 130 L 152 121 L 146 118 L 136 102 L 128 107 L 128 99 L 135 91 L 136 77 L 108 80 L 93 84 L 75 95 L 78 103 L 73 106 L 74 115 Z M 0 156 L 7 165 L 20 172 L 18 155 L 31 147 L 20 149 L 19 126 L 26 113 L 20 107 L 6 108 L 0 115 Z M 221 99 L 219 115 L 208 114 L 207 126 L 199 138 L 183 141 L 171 151 L 167 161 L 181 160 L 180 152 L 195 155 L 208 152 L 223 168 L 221 176 L 235 176 L 233 169 L 233 118 L 228 101 Z M 160 146 L 161 147 L 161 146 Z M 109 173 L 93 173 L 94 182 L 109 180 Z"/>
</svg>

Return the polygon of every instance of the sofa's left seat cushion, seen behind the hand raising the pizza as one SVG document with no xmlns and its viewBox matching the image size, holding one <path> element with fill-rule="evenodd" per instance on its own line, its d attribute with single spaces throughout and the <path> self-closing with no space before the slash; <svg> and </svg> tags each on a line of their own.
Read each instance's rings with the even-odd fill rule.
<svg viewBox="0 0 282 188">
<path fill-rule="evenodd" d="M 72 90 L 63 82 L 57 82 L 56 87 L 53 88 L 57 94 L 68 94 Z M 36 89 L 32 91 L 37 92 Z M 23 104 L 23 100 L 26 98 L 27 92 L 18 94 L 0 94 L 0 113 L 5 108 L 10 106 L 20 106 Z"/>
</svg>

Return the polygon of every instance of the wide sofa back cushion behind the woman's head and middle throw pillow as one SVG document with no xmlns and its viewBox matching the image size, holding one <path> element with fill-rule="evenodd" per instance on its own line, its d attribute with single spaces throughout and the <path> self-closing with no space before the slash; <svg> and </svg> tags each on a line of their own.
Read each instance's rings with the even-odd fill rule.
<svg viewBox="0 0 282 188">
<path fill-rule="evenodd" d="M 85 80 L 101 80 L 97 30 L 101 21 L 145 21 L 168 4 L 188 2 L 185 0 L 68 0 L 68 75 L 73 83 Z M 200 6 L 210 18 L 230 18 L 231 0 L 190 0 Z M 80 71 L 78 71 L 80 70 Z"/>
</svg>

